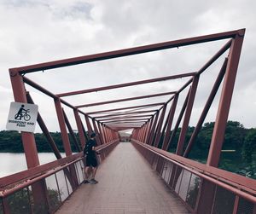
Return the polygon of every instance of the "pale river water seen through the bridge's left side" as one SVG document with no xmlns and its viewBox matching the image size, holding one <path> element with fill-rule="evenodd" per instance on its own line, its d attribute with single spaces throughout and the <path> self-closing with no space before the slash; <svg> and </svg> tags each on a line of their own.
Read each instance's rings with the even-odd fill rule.
<svg viewBox="0 0 256 214">
<path fill-rule="evenodd" d="M 54 153 L 38 153 L 40 165 L 56 160 Z M 65 153 L 61 153 L 65 157 Z M 24 153 L 0 153 L 0 177 L 25 171 L 26 158 Z"/>
</svg>

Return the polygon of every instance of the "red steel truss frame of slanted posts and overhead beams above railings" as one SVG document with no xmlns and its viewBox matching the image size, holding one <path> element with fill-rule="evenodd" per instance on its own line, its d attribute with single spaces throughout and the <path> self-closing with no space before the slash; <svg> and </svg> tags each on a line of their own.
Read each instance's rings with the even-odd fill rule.
<svg viewBox="0 0 256 214">
<path fill-rule="evenodd" d="M 179 136 L 179 140 L 177 142 L 176 153 L 178 155 L 187 156 L 193 145 L 193 142 L 195 142 L 195 136 L 197 135 L 198 131 L 200 130 L 201 124 L 206 118 L 207 111 L 211 107 L 214 94 L 218 90 L 221 79 L 224 76 L 224 84 L 223 84 L 222 94 L 221 94 L 219 105 L 218 105 L 216 123 L 214 126 L 211 147 L 210 147 L 209 155 L 207 158 L 207 165 L 218 167 L 219 155 L 222 148 L 222 142 L 224 140 L 225 125 L 228 119 L 230 101 L 231 101 L 234 84 L 236 80 L 236 72 L 237 72 L 238 62 L 241 54 L 241 45 L 242 45 L 244 33 L 245 33 L 245 29 L 241 29 L 237 31 L 222 32 L 222 33 L 216 33 L 216 34 L 195 37 L 195 38 L 179 39 L 176 41 L 169 41 L 166 43 L 155 43 L 155 44 L 145 45 L 137 48 L 115 50 L 115 51 L 96 54 L 96 55 L 85 55 L 85 56 L 70 58 L 70 59 L 61 60 L 61 61 L 50 61 L 50 62 L 32 65 L 28 67 L 12 68 L 12 69 L 9 69 L 9 75 L 11 78 L 15 101 L 28 102 L 29 100 L 31 100 L 30 102 L 32 103 L 32 98 L 31 99 L 26 98 L 26 87 L 24 83 L 29 84 L 33 88 L 43 92 L 46 95 L 49 95 L 51 98 L 54 99 L 55 110 L 56 110 L 58 122 L 60 124 L 60 129 L 61 129 L 61 137 L 62 137 L 63 145 L 65 148 L 65 153 L 67 156 L 72 155 L 70 142 L 67 136 L 67 128 L 69 132 L 72 132 L 72 127 L 69 124 L 67 117 L 65 117 L 63 113 L 61 104 L 64 104 L 65 106 L 73 109 L 74 118 L 79 130 L 79 141 L 80 141 L 81 147 L 84 147 L 84 144 L 85 144 L 85 136 L 84 136 L 85 130 L 84 130 L 83 121 L 80 118 L 79 114 L 84 115 L 84 119 L 85 119 L 85 123 L 86 123 L 86 127 L 89 135 L 93 131 L 95 131 L 96 134 L 98 134 L 96 137 L 99 145 L 106 144 L 108 142 L 113 142 L 114 140 L 118 139 L 119 138 L 119 135 L 117 133 L 118 130 L 133 129 L 132 137 L 135 140 L 144 142 L 145 144 L 154 145 L 154 147 L 160 147 L 160 139 L 162 138 L 163 142 L 161 147 L 163 147 L 163 149 L 165 150 L 168 150 L 168 148 L 170 147 L 170 144 L 172 143 L 172 138 L 176 133 L 176 130 L 181 122 L 181 119 L 183 118 L 183 125 L 182 125 L 181 133 Z M 34 83 L 29 78 L 24 77 L 24 74 L 30 73 L 30 72 L 38 72 L 42 70 L 44 71 L 47 69 L 53 69 L 57 67 L 73 66 L 81 63 L 88 63 L 91 61 L 103 61 L 103 60 L 108 60 L 112 58 L 123 57 L 126 55 L 137 55 L 137 54 L 143 54 L 143 53 L 157 51 L 161 49 L 172 49 L 172 48 L 182 47 L 186 45 L 192 45 L 197 43 L 207 43 L 207 42 L 218 41 L 223 39 L 228 39 L 227 43 L 225 43 L 224 46 L 221 49 L 219 49 L 218 52 L 215 55 L 213 55 L 212 58 L 209 59 L 209 61 L 207 61 L 206 64 L 204 64 L 201 67 L 201 69 L 199 69 L 197 72 L 187 72 L 187 73 L 182 73 L 182 74 L 177 74 L 177 75 L 172 75 L 167 77 L 152 78 L 152 79 L 146 79 L 146 80 L 130 82 L 125 84 L 113 84 L 113 85 L 104 86 L 104 87 L 97 87 L 94 89 L 65 92 L 58 95 L 51 93 L 49 90 L 44 89 L 42 86 Z M 218 58 L 221 55 L 223 55 L 228 49 L 230 49 L 230 53 L 227 60 L 224 62 L 224 67 L 221 69 L 221 73 L 219 74 L 221 77 L 218 77 L 218 79 L 216 80 L 216 84 L 214 84 L 214 87 L 212 89 L 212 94 L 210 95 L 207 101 L 206 107 L 204 108 L 203 113 L 201 114 L 201 118 L 198 122 L 198 127 L 196 127 L 195 133 L 189 141 L 189 146 L 185 149 L 185 153 L 183 154 L 185 136 L 189 126 L 189 119 L 192 112 L 192 107 L 195 100 L 195 94 L 196 94 L 197 84 L 198 84 L 200 75 L 202 72 L 205 72 L 207 68 L 212 65 L 213 62 L 218 60 Z M 188 78 L 188 77 L 191 77 L 191 78 L 189 78 L 189 80 L 185 84 L 183 84 L 181 88 L 177 89 L 174 92 L 135 96 L 135 97 L 129 97 L 129 98 L 119 99 L 114 101 L 101 101 L 101 102 L 89 103 L 89 104 L 81 103 L 80 105 L 75 107 L 61 98 L 62 96 L 67 96 L 67 95 L 79 95 L 79 94 L 90 93 L 90 92 L 95 92 L 99 90 L 113 90 L 121 87 L 125 88 L 125 87 L 130 87 L 138 84 L 149 84 L 149 83 L 154 83 L 154 82 L 168 80 L 168 79 Z M 176 112 L 177 98 L 183 92 L 183 90 L 188 89 L 189 87 L 190 87 L 189 93 L 187 95 L 187 98 L 183 102 L 182 110 L 177 118 L 177 123 L 174 129 L 172 130 L 172 136 L 170 136 L 171 128 L 172 128 L 172 120 Z M 168 97 L 168 100 L 166 102 L 160 102 L 160 103 L 154 103 L 154 104 L 146 103 L 145 105 L 140 105 L 140 106 L 104 109 L 101 111 L 94 111 L 90 113 L 84 113 L 84 111 L 80 109 L 82 107 L 94 107 L 99 105 L 102 106 L 102 105 L 115 103 L 115 102 L 135 101 L 138 99 L 159 97 L 162 95 L 172 95 L 172 97 L 171 98 Z M 168 116 L 166 117 L 166 122 L 164 123 L 166 107 L 171 102 L 172 102 L 172 107 L 170 107 L 170 112 L 168 113 Z M 158 107 L 157 109 L 148 110 L 148 111 L 141 110 L 142 107 L 157 107 L 157 106 L 160 106 L 160 107 Z M 127 109 L 132 109 L 132 110 L 129 112 L 127 111 Z M 124 112 L 117 112 L 117 111 L 124 111 Z M 147 113 L 147 112 L 154 112 L 154 114 L 143 115 L 143 113 Z M 105 113 L 105 115 L 102 115 L 102 113 Z M 145 118 L 147 116 L 148 118 Z M 44 134 L 47 136 L 52 147 L 55 147 L 55 142 L 52 141 L 49 135 L 49 131 L 47 130 L 47 127 L 45 126 L 43 119 L 40 117 L 40 114 L 38 114 L 38 123 L 40 124 L 40 127 L 44 131 Z M 38 166 L 39 165 L 38 152 L 37 152 L 33 134 L 27 133 L 27 132 L 21 132 L 21 137 L 22 137 L 23 147 L 26 153 L 27 167 L 32 168 L 34 166 Z M 56 148 L 55 148 L 55 154 L 56 156 L 59 156 L 58 150 Z M 61 156 L 59 156 L 58 158 L 61 158 Z M 71 169 L 71 172 L 73 173 L 73 175 L 75 174 L 72 169 Z M 175 174 L 175 176 L 177 175 Z M 42 189 L 44 188 L 44 183 L 41 184 L 41 188 Z M 44 196 L 42 197 L 44 198 Z M 40 197 L 41 195 L 38 194 L 38 199 Z"/>
</svg>

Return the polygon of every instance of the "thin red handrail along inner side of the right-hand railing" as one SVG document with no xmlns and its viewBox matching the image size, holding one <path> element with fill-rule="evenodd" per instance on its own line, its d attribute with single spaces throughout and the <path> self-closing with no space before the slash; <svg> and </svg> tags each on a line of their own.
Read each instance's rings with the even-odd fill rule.
<svg viewBox="0 0 256 214">
<path fill-rule="evenodd" d="M 136 142 L 138 145 L 147 148 L 148 150 L 150 150 L 152 153 L 156 153 L 157 155 L 159 155 L 160 157 L 167 159 L 168 161 L 171 161 L 172 163 L 174 163 L 175 165 L 181 166 L 183 169 L 186 169 L 187 171 L 192 172 L 193 174 L 200 176 L 204 179 L 206 179 L 209 182 L 213 182 L 215 184 L 217 184 L 218 186 L 225 188 L 231 192 L 233 192 L 234 194 L 237 194 L 247 200 L 250 200 L 253 203 L 256 203 L 256 197 L 253 196 L 253 194 L 255 195 L 255 192 L 252 191 L 252 189 L 248 189 L 248 188 L 244 188 L 244 186 L 242 185 L 236 185 L 236 183 L 234 184 L 230 184 L 230 183 L 225 183 L 223 181 L 218 181 L 216 177 L 212 177 L 210 175 L 204 174 L 204 171 L 198 171 L 198 169 L 193 169 L 190 168 L 191 166 L 187 166 L 184 165 L 183 163 L 178 162 L 177 160 L 174 159 L 170 159 L 169 157 L 167 157 L 166 155 L 159 153 L 157 151 L 155 151 L 154 149 L 152 149 L 151 147 L 149 147 L 148 145 L 145 145 L 144 143 L 138 142 L 137 140 L 131 139 L 132 142 Z M 233 186 L 236 186 L 233 187 Z M 244 191 L 242 191 L 244 190 Z M 250 194 L 249 194 L 250 193 Z"/>
</svg>

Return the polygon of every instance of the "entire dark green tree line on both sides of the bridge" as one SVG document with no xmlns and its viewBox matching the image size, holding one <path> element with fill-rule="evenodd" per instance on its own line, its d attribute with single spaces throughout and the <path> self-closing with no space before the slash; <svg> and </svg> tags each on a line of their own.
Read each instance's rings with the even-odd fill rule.
<svg viewBox="0 0 256 214">
<path fill-rule="evenodd" d="M 195 159 L 202 163 L 206 163 L 213 127 L 213 122 L 203 124 L 199 135 L 195 139 L 194 146 L 189 153 L 189 159 Z M 188 144 L 189 138 L 194 130 L 195 127 L 189 126 L 186 133 L 185 146 Z M 180 128 L 177 130 L 177 133 L 172 140 L 169 152 L 175 153 L 179 133 Z M 51 132 L 50 134 L 60 152 L 64 152 L 61 133 Z M 78 134 L 76 134 L 76 138 L 79 141 Z M 73 138 L 69 136 L 69 139 L 73 152 L 77 152 L 73 143 Z M 35 140 L 38 152 L 52 152 L 43 133 L 36 133 Z M 160 146 L 162 141 L 163 138 L 160 140 Z M 239 122 L 228 121 L 222 149 L 223 152 L 221 153 L 219 168 L 256 178 L 256 129 L 246 129 Z M 0 152 L 23 153 L 21 137 L 18 131 L 0 131 Z"/>
</svg>

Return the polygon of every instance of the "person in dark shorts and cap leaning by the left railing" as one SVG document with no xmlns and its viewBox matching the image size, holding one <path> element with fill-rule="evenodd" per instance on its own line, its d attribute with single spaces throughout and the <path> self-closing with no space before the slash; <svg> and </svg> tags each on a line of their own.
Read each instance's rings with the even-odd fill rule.
<svg viewBox="0 0 256 214">
<path fill-rule="evenodd" d="M 84 168 L 84 176 L 85 176 L 84 183 L 97 183 L 97 181 L 95 180 L 95 175 L 96 175 L 97 166 L 98 166 L 96 153 L 98 153 L 96 152 L 96 134 L 92 133 L 90 134 L 90 140 L 86 142 L 84 147 L 84 158 L 86 161 L 86 165 Z M 90 168 L 92 169 L 92 175 L 89 180 Z"/>
</svg>

